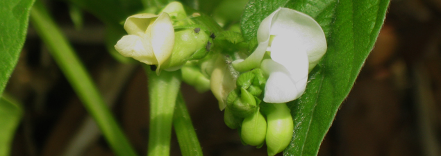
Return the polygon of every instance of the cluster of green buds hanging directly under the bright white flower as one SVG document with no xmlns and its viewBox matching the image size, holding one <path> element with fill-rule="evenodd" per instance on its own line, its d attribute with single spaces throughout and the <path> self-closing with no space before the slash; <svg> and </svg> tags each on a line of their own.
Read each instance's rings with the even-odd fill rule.
<svg viewBox="0 0 441 156">
<path fill-rule="evenodd" d="M 237 88 L 228 94 L 224 122 L 240 130 L 244 144 L 262 147 L 266 142 L 268 155 L 276 155 L 291 141 L 293 121 L 285 103 L 260 101 L 266 78 L 261 69 L 242 73 Z"/>
</svg>

